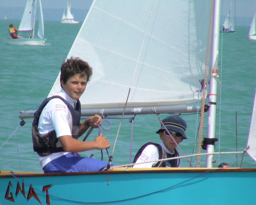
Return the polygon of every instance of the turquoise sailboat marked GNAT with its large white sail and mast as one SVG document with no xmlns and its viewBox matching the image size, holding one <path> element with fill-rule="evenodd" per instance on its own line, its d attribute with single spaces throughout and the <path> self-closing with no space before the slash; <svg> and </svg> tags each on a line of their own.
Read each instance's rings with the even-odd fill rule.
<svg viewBox="0 0 256 205">
<path fill-rule="evenodd" d="M 103 118 L 111 115 L 136 118 L 141 114 L 189 112 L 201 112 L 203 117 L 207 96 L 209 122 L 204 140 L 207 153 L 196 154 L 207 155 L 205 168 L 188 164 L 187 168 L 148 169 L 133 168 L 127 163 L 102 172 L 1 171 L 0 203 L 165 204 L 171 196 L 174 204 L 205 205 L 223 204 L 228 196 L 225 204 L 243 204 L 245 199 L 247 204 L 253 204 L 256 196 L 248 190 L 254 190 L 255 168 L 213 168 L 213 156 L 222 154 L 214 152 L 221 64 L 220 5 L 220 0 L 212 0 L 211 6 L 207 0 L 119 0 L 118 3 L 94 0 L 67 56 L 79 57 L 93 67 L 92 80 L 80 98 L 81 114 L 85 117 L 101 114 Z M 213 24 L 205 24 L 206 21 Z M 204 35 L 205 30 L 210 32 L 209 39 Z M 212 49 L 204 47 L 207 43 Z M 209 94 L 206 82 L 210 84 Z M 49 96 L 59 90 L 60 75 Z M 202 101 L 201 109 L 198 100 Z M 33 118 L 34 113 L 35 110 L 24 110 L 19 117 Z M 202 142 L 198 142 L 201 147 Z M 255 153 L 253 145 L 254 140 L 248 141 L 250 151 Z M 114 148 L 110 162 L 113 153 Z M 189 196 L 184 197 L 184 193 Z"/>
</svg>

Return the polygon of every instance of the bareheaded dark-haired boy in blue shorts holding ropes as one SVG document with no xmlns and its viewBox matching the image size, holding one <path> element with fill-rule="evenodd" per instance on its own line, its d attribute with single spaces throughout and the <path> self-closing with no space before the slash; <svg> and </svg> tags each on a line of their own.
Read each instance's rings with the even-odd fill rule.
<svg viewBox="0 0 256 205">
<path fill-rule="evenodd" d="M 78 140 L 90 127 L 98 128 L 100 115 L 80 123 L 81 104 L 92 76 L 92 67 L 79 58 L 70 58 L 60 68 L 61 90 L 43 101 L 32 123 L 33 149 L 39 155 L 44 173 L 99 171 L 108 163 L 81 157 L 77 152 L 110 147 L 107 137 L 100 134 L 94 141 Z"/>
</svg>

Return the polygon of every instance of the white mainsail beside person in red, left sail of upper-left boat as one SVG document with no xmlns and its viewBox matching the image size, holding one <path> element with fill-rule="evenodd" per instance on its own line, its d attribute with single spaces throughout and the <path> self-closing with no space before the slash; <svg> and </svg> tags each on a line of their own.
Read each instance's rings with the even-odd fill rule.
<svg viewBox="0 0 256 205">
<path fill-rule="evenodd" d="M 19 31 L 32 31 L 34 24 L 35 0 L 28 0 L 20 21 Z"/>
</svg>

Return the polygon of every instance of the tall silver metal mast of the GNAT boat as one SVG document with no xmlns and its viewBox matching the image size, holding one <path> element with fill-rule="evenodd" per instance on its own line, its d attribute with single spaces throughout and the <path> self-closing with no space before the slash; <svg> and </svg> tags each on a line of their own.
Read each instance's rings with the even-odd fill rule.
<svg viewBox="0 0 256 205">
<path fill-rule="evenodd" d="M 217 86 L 219 69 L 219 37 L 220 37 L 220 0 L 215 0 L 213 5 L 213 25 L 212 25 L 212 56 L 209 90 L 209 117 L 208 117 L 208 138 L 215 138 L 216 109 L 217 109 Z M 206 167 L 213 166 L 214 144 L 207 145 Z"/>
</svg>

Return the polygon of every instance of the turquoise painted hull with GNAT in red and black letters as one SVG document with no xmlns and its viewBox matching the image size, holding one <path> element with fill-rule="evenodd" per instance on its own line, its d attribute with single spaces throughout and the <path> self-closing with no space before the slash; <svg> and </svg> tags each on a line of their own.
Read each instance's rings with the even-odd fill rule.
<svg viewBox="0 0 256 205">
<path fill-rule="evenodd" d="M 0 204 L 255 204 L 256 169 L 241 170 L 0 175 Z"/>
</svg>

